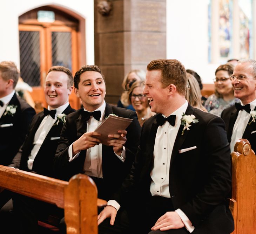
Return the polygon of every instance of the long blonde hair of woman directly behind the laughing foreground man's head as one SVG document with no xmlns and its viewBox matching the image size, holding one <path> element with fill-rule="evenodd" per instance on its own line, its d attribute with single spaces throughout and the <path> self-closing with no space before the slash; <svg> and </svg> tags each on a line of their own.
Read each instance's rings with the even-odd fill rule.
<svg viewBox="0 0 256 234">
<path fill-rule="evenodd" d="M 188 78 L 188 83 L 187 83 L 186 99 L 188 103 L 194 108 L 198 108 L 202 111 L 207 112 L 207 110 L 203 107 L 201 102 L 201 91 L 196 78 L 189 73 L 187 73 L 187 78 Z"/>
</svg>

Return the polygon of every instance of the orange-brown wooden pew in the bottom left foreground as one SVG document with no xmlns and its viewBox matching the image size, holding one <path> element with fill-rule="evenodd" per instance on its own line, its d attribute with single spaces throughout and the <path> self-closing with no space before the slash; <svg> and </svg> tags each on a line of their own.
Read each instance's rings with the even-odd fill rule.
<svg viewBox="0 0 256 234">
<path fill-rule="evenodd" d="M 67 234 L 98 233 L 97 206 L 106 201 L 97 199 L 87 175 L 74 175 L 67 182 L 0 165 L 0 187 L 64 208 Z"/>
</svg>

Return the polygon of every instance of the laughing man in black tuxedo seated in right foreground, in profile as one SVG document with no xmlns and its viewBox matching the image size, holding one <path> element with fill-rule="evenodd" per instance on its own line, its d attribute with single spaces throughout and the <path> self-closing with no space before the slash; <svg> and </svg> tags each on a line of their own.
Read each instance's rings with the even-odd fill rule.
<svg viewBox="0 0 256 234">
<path fill-rule="evenodd" d="M 158 114 L 142 126 L 132 170 L 98 216 L 99 233 L 231 233 L 231 159 L 222 119 L 188 104 L 186 70 L 177 60 L 151 61 L 145 85 Z"/>
</svg>

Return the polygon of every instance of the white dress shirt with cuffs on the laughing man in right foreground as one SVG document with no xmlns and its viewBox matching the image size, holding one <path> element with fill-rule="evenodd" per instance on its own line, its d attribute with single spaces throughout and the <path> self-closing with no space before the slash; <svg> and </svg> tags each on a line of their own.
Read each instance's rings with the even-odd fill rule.
<svg viewBox="0 0 256 234">
<path fill-rule="evenodd" d="M 154 167 L 150 173 L 151 184 L 150 193 L 152 196 L 162 196 L 170 198 L 169 192 L 169 171 L 171 154 L 173 152 L 174 142 L 181 125 L 182 113 L 185 113 L 188 107 L 186 101 L 180 108 L 175 110 L 171 115 L 176 115 L 175 126 L 171 126 L 166 121 L 162 126 L 159 126 L 156 132 L 155 145 L 154 145 Z M 168 117 L 164 116 L 163 117 Z M 117 209 L 120 209 L 120 204 L 115 200 L 109 200 L 108 205 L 111 205 Z M 195 229 L 192 223 L 188 219 L 187 215 L 184 214 L 181 209 L 175 211 L 181 218 L 186 229 L 191 233 Z M 160 218 L 160 217 L 159 217 Z"/>
</svg>

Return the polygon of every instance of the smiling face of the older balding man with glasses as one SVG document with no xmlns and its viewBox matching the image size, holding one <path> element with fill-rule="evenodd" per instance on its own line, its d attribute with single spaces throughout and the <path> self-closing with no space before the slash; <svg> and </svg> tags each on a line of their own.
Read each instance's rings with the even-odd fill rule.
<svg viewBox="0 0 256 234">
<path fill-rule="evenodd" d="M 232 81 L 235 97 L 239 98 L 244 105 L 256 99 L 256 79 L 253 67 L 249 62 L 238 63 L 234 69 L 234 76 L 244 76 L 241 81 L 235 78 Z"/>
</svg>

